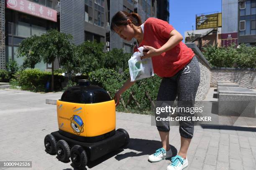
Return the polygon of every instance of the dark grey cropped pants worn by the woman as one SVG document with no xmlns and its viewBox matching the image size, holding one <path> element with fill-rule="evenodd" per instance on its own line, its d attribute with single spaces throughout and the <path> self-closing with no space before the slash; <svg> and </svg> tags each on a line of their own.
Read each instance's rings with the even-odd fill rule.
<svg viewBox="0 0 256 170">
<path fill-rule="evenodd" d="M 169 101 L 171 107 L 177 97 L 177 107 L 194 107 L 197 88 L 200 84 L 200 65 L 195 55 L 190 62 L 172 77 L 163 77 L 157 94 L 156 102 Z M 163 103 L 161 104 L 163 107 Z M 168 117 L 170 113 L 161 113 Z M 178 113 L 187 114 L 190 113 Z M 156 115 L 159 116 L 159 115 Z M 169 121 L 157 121 L 157 130 L 169 132 Z M 179 133 L 184 138 L 191 139 L 194 134 L 192 121 L 179 121 Z"/>
</svg>

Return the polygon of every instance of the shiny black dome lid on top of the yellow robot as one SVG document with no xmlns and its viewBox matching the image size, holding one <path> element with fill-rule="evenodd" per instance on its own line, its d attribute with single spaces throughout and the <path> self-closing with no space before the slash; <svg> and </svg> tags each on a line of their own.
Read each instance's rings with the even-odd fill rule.
<svg viewBox="0 0 256 170">
<path fill-rule="evenodd" d="M 79 85 L 69 87 L 61 96 L 61 101 L 74 103 L 98 103 L 110 100 L 106 90 L 97 85 L 90 85 L 89 81 L 80 80 Z"/>
</svg>

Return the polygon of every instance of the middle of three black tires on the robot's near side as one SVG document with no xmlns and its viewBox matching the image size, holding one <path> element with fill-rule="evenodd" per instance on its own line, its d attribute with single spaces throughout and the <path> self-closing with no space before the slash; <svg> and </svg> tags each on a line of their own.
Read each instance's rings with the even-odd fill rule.
<svg viewBox="0 0 256 170">
<path fill-rule="evenodd" d="M 63 154 L 59 155 L 58 150 L 62 150 Z M 56 152 L 57 152 L 57 158 L 61 162 L 67 162 L 70 158 L 70 148 L 69 144 L 65 140 L 59 140 L 56 143 Z"/>
</svg>

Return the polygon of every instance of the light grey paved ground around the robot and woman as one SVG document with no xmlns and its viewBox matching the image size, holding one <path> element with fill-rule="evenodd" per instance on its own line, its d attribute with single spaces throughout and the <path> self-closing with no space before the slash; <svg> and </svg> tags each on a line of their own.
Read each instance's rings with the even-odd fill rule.
<svg viewBox="0 0 256 170">
<path fill-rule="evenodd" d="M 212 100 L 214 93 L 214 88 L 210 88 L 205 100 Z M 0 161 L 32 161 L 32 168 L 28 170 L 73 170 L 71 162 L 62 163 L 56 155 L 44 151 L 45 135 L 58 130 L 56 105 L 45 104 L 45 101 L 60 96 L 61 92 L 0 90 Z M 147 160 L 148 155 L 161 147 L 150 116 L 117 112 L 116 128 L 128 131 L 131 138 L 128 148 L 89 163 L 86 169 L 165 170 L 171 163 L 170 160 L 158 163 Z M 179 151 L 178 126 L 171 126 L 170 145 L 174 154 Z M 187 158 L 187 170 L 256 170 L 256 129 L 195 126 Z"/>
</svg>

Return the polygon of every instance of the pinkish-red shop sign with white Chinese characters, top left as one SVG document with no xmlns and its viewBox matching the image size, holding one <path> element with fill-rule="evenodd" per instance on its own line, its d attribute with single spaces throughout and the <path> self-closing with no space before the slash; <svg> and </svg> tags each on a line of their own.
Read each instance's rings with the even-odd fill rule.
<svg viewBox="0 0 256 170">
<path fill-rule="evenodd" d="M 28 0 L 6 0 L 6 7 L 29 15 L 57 22 L 57 11 Z"/>
</svg>

